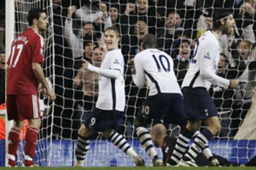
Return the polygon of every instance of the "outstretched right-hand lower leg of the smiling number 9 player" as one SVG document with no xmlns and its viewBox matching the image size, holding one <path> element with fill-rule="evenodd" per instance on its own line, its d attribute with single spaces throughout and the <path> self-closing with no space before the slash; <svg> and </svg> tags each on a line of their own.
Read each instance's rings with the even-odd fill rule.
<svg viewBox="0 0 256 170">
<path fill-rule="evenodd" d="M 136 166 L 145 165 L 142 157 L 139 156 L 127 143 L 126 139 L 115 130 L 109 129 L 108 131 L 103 132 L 103 136 L 106 139 L 109 139 L 114 145 L 116 145 L 116 147 L 121 149 L 124 153 L 129 155 L 132 158 L 133 162 L 136 164 Z"/>
</svg>

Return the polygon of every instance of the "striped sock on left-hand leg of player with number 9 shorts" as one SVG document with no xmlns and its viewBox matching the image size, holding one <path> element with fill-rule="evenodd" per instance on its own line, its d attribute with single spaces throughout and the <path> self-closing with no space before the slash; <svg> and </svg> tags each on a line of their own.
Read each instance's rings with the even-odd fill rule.
<svg viewBox="0 0 256 170">
<path fill-rule="evenodd" d="M 78 134 L 76 144 L 76 160 L 84 160 L 86 152 L 89 150 L 89 140 Z"/>
</svg>

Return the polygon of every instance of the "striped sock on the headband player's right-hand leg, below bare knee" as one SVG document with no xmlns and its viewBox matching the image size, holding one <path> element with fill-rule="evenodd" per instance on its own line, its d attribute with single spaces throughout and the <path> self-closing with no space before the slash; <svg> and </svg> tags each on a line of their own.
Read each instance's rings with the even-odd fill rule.
<svg viewBox="0 0 256 170">
<path fill-rule="evenodd" d="M 188 152 L 186 153 L 184 160 L 195 160 L 198 153 L 204 149 L 205 145 L 208 144 L 212 136 L 212 133 L 208 129 L 204 129 L 201 133 L 199 133 L 195 137 L 194 143 L 191 145 Z"/>
</svg>

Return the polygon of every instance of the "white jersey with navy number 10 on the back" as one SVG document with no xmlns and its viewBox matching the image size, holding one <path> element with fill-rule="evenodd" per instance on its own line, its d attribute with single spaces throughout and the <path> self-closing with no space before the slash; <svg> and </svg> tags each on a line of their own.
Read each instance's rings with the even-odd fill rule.
<svg viewBox="0 0 256 170">
<path fill-rule="evenodd" d="M 170 55 L 155 48 L 146 49 L 134 58 L 136 74 L 133 82 L 143 87 L 147 79 L 149 96 L 158 93 L 180 93 L 180 86 L 173 71 Z"/>
</svg>

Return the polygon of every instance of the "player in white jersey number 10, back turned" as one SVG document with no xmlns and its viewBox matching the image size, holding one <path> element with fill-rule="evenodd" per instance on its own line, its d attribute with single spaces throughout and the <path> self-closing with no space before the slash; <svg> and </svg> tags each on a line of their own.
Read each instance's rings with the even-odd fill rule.
<svg viewBox="0 0 256 170">
<path fill-rule="evenodd" d="M 162 159 L 157 156 L 151 136 L 145 127 L 154 120 L 155 123 L 164 122 L 179 124 L 182 127 L 182 141 L 185 148 L 193 136 L 185 125 L 187 114 L 183 103 L 180 86 L 173 71 L 173 61 L 170 55 L 157 49 L 157 40 L 153 34 L 147 34 L 143 38 L 143 51 L 134 58 L 135 72 L 132 75 L 133 82 L 139 87 L 148 82 L 148 98 L 142 106 L 135 121 L 136 133 L 142 146 L 151 157 L 154 166 L 163 166 Z M 132 63 L 133 60 L 130 60 Z"/>
</svg>

